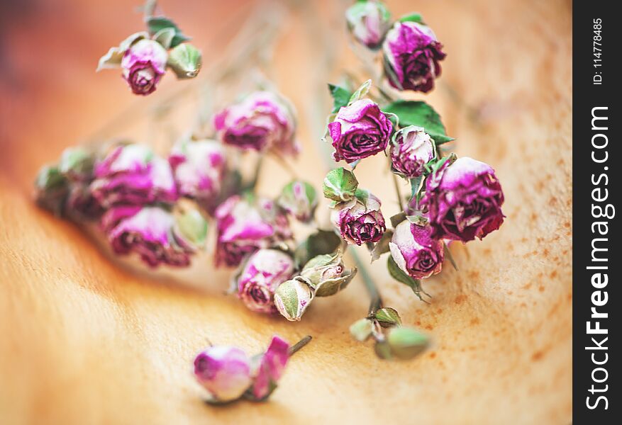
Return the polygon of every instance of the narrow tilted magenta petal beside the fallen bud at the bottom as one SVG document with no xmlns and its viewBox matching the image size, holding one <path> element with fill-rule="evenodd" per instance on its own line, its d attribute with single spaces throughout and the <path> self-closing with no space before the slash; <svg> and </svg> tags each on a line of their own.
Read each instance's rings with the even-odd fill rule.
<svg viewBox="0 0 622 425">
<path fill-rule="evenodd" d="M 279 336 L 273 336 L 255 372 L 251 388 L 255 400 L 262 401 L 270 396 L 284 373 L 287 361 L 289 361 L 289 344 Z"/>
</svg>

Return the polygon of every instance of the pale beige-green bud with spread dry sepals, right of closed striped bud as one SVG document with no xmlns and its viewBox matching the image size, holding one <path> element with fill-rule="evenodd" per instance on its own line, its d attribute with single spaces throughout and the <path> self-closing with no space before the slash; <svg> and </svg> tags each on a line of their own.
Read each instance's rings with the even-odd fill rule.
<svg viewBox="0 0 622 425">
<path fill-rule="evenodd" d="M 347 270 L 340 252 L 315 256 L 300 272 L 301 278 L 306 279 L 315 290 L 316 297 L 328 297 L 338 293 L 355 275 L 356 268 Z"/>
</svg>

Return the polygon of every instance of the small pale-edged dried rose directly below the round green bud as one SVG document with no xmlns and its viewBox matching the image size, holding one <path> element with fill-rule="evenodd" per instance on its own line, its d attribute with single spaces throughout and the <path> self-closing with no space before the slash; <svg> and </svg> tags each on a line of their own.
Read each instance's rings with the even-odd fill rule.
<svg viewBox="0 0 622 425">
<path fill-rule="evenodd" d="M 350 202 L 335 205 L 331 220 L 341 237 L 350 244 L 378 242 L 387 229 L 380 212 L 380 200 L 360 189 Z"/>
</svg>

